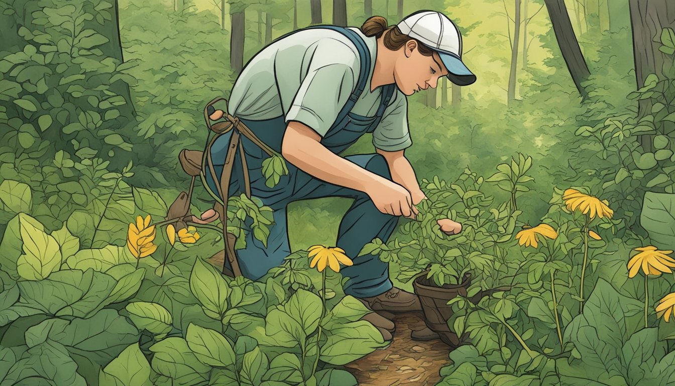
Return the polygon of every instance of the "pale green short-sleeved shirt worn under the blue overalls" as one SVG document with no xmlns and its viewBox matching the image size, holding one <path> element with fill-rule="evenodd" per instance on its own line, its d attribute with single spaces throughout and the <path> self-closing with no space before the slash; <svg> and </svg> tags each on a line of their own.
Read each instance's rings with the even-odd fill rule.
<svg viewBox="0 0 675 386">
<path fill-rule="evenodd" d="M 350 29 L 364 39 L 371 53 L 366 87 L 352 112 L 375 116 L 382 89 L 370 90 L 377 41 L 358 28 Z M 227 110 L 249 120 L 284 116 L 287 124 L 291 120 L 302 122 L 323 137 L 356 89 L 359 70 L 358 51 L 343 34 L 334 30 L 300 30 L 267 45 L 250 59 L 235 82 Z M 385 151 L 412 145 L 408 101 L 398 88 L 373 132 L 373 145 Z"/>
</svg>

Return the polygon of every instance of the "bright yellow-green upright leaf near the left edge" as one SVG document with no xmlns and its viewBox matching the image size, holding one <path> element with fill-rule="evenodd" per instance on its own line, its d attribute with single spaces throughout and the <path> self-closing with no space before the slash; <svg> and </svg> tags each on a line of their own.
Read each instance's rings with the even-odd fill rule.
<svg viewBox="0 0 675 386">
<path fill-rule="evenodd" d="M 17 260 L 16 270 L 23 279 L 42 280 L 61 268 L 59 243 L 45 231 L 28 221 L 20 222 L 24 254 Z"/>
</svg>

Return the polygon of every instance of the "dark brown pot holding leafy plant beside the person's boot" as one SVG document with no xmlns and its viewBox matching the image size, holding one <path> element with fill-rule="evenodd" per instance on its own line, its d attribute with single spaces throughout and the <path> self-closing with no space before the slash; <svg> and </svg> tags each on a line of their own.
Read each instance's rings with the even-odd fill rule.
<svg viewBox="0 0 675 386">
<path fill-rule="evenodd" d="M 464 280 L 459 285 L 446 284 L 443 287 L 437 287 L 430 279 L 427 279 L 426 273 L 418 275 L 412 282 L 412 287 L 422 304 L 425 324 L 431 331 L 440 335 L 443 343 L 457 347 L 463 339 L 460 339 L 448 327 L 448 319 L 452 316 L 452 306 L 448 306 L 447 303 L 458 295 L 466 296 L 466 289 L 471 284 L 471 274 L 466 272 Z"/>
</svg>

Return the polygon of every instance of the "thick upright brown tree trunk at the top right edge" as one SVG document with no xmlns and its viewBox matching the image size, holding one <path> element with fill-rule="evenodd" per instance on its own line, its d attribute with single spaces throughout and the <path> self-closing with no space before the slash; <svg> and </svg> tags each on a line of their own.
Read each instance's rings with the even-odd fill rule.
<svg viewBox="0 0 675 386">
<path fill-rule="evenodd" d="M 656 74 L 659 80 L 672 69 L 672 59 L 659 51 L 661 30 L 675 28 L 675 3 L 672 0 L 629 0 L 632 24 L 633 54 L 637 88 L 645 86 L 645 78 Z M 651 100 L 642 99 L 638 105 L 640 117 L 651 113 Z M 651 151 L 651 137 L 641 135 L 643 149 Z"/>
</svg>

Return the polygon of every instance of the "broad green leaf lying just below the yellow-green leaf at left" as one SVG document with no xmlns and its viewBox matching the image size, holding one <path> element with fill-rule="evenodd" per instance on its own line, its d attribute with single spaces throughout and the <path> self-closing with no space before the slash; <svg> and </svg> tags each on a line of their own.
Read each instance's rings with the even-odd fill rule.
<svg viewBox="0 0 675 386">
<path fill-rule="evenodd" d="M 115 279 L 92 269 L 60 270 L 41 281 L 18 282 L 22 306 L 55 316 L 86 318 L 105 306 Z"/>
</svg>

